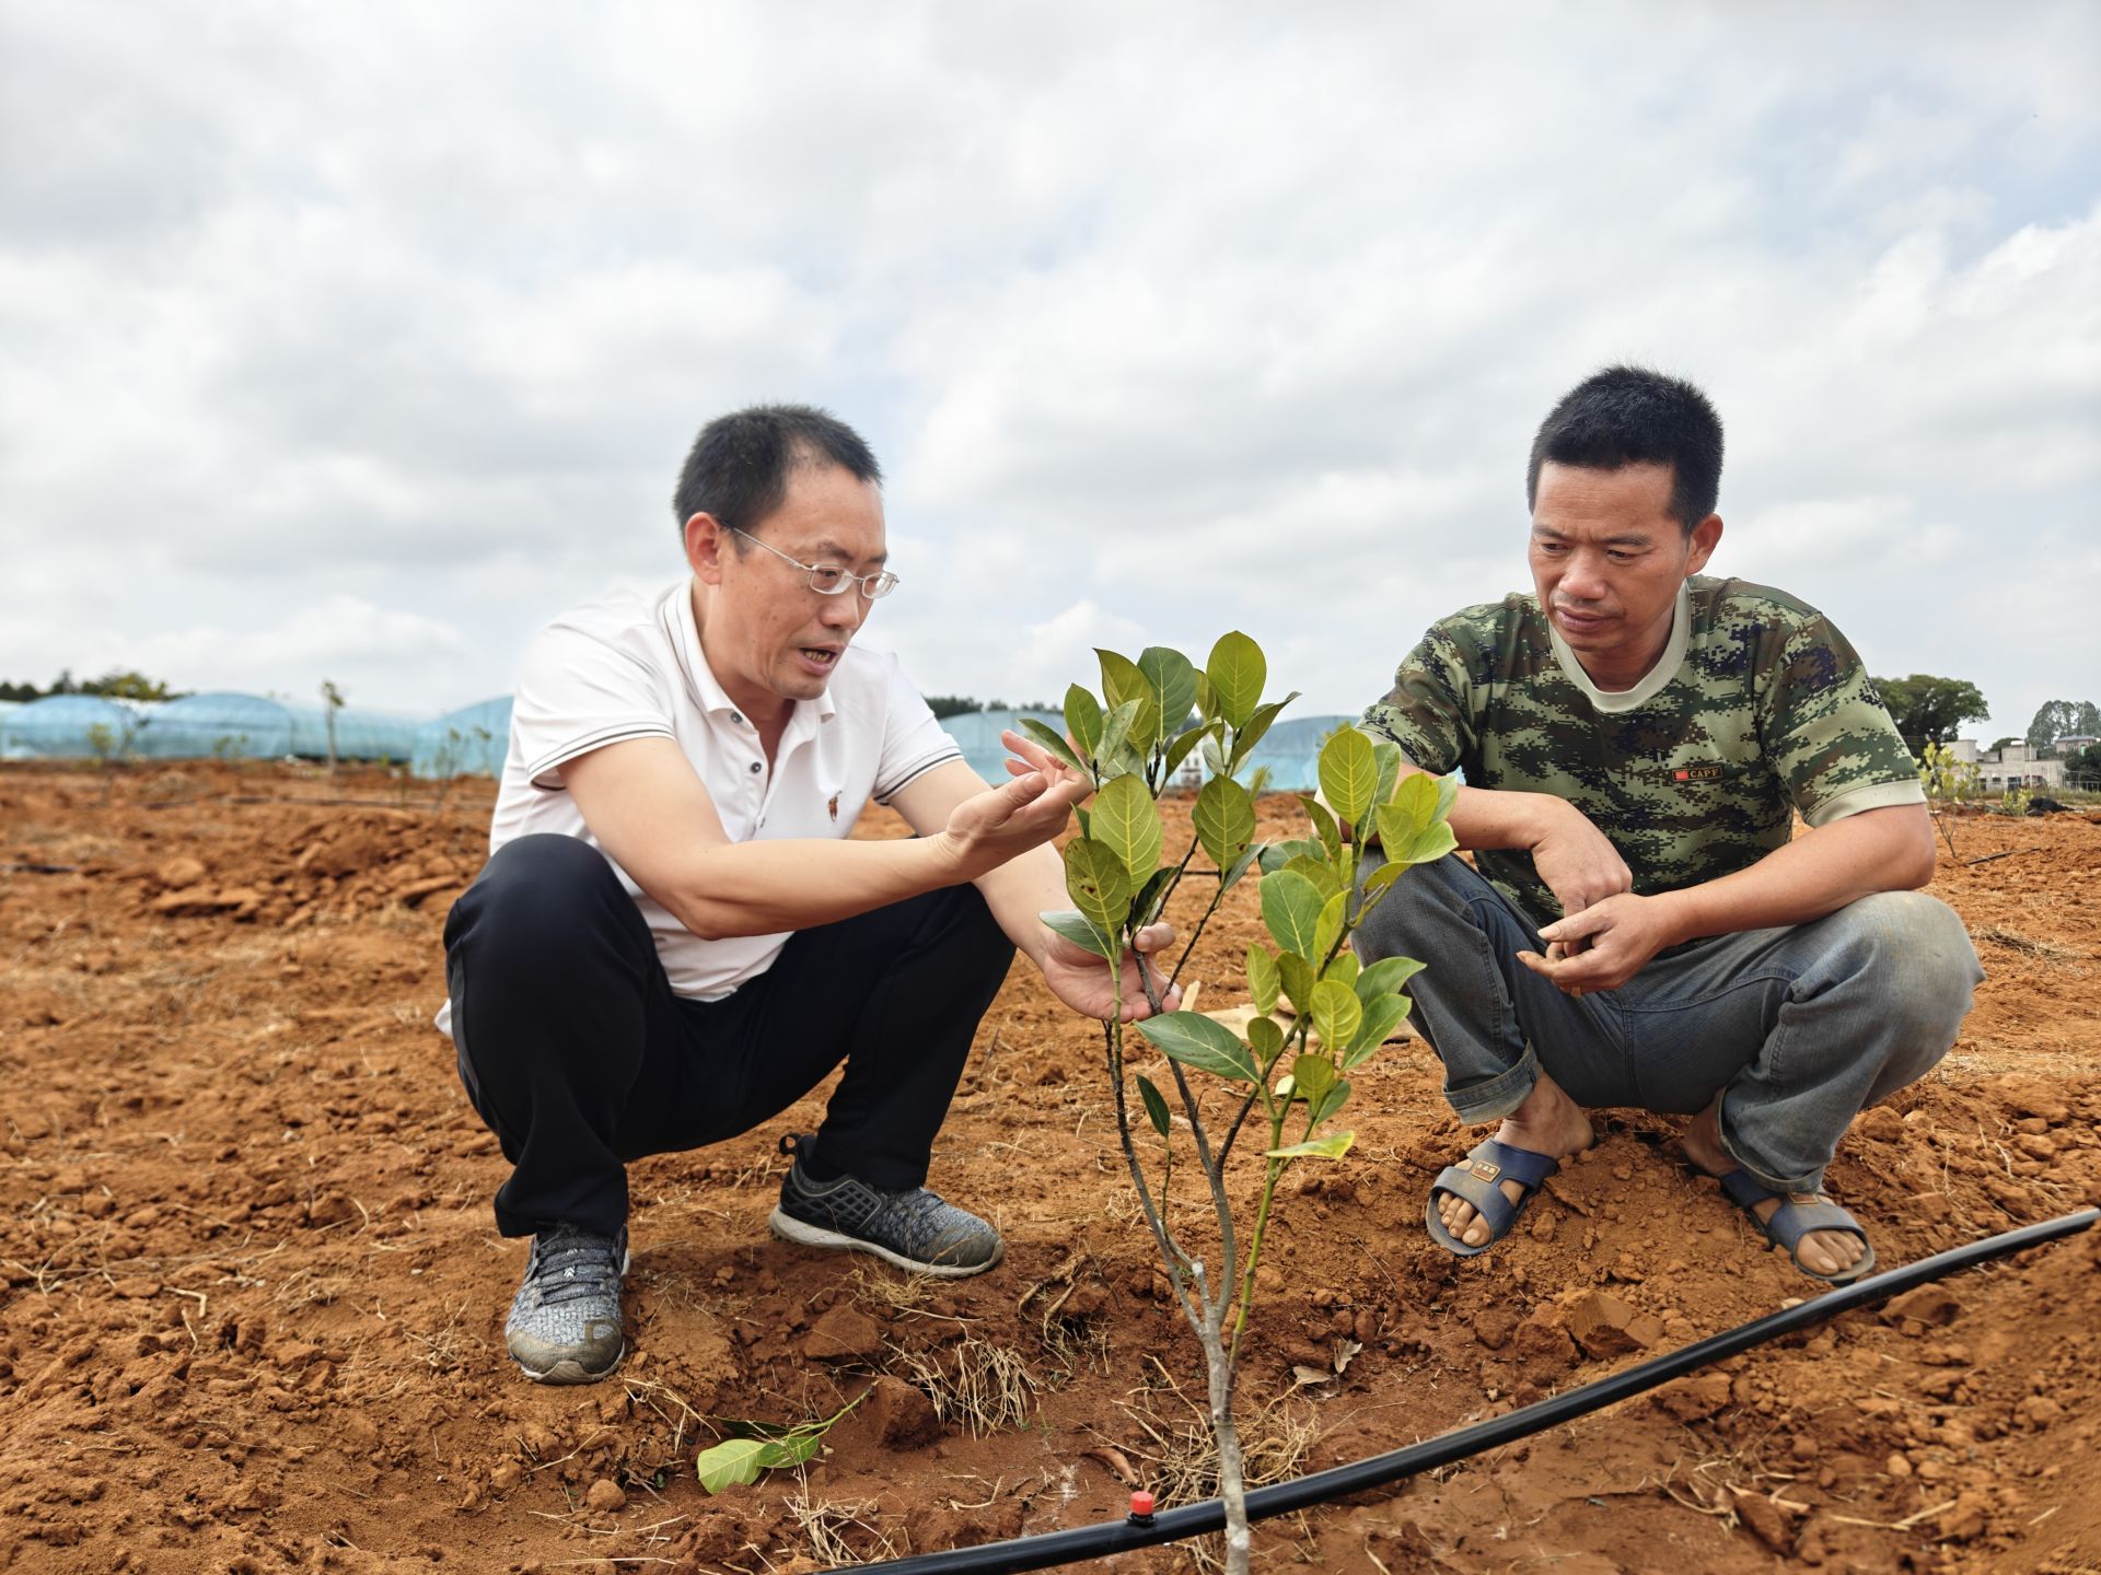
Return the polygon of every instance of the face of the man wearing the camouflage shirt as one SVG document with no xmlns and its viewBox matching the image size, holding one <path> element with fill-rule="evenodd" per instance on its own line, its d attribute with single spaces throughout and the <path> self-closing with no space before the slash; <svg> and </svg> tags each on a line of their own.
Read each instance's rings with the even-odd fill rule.
<svg viewBox="0 0 2101 1575">
<path fill-rule="evenodd" d="M 1607 689 L 1628 689 L 1670 640 L 1679 586 L 1698 573 L 1721 519 L 1691 533 L 1670 517 L 1670 466 L 1542 464 L 1532 506 L 1532 584 L 1555 632 Z"/>
</svg>

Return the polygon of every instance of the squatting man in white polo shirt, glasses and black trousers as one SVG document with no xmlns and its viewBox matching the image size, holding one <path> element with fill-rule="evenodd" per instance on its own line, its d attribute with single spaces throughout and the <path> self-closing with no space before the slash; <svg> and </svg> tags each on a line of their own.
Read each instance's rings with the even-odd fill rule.
<svg viewBox="0 0 2101 1575">
<path fill-rule="evenodd" d="M 527 1378 L 624 1352 L 626 1161 L 748 1132 L 840 1060 L 817 1134 L 784 1140 L 773 1231 L 992 1268 L 998 1233 L 924 1186 L 977 1023 L 1017 947 L 1114 1010 L 1101 962 L 1036 918 L 1067 905 L 1048 842 L 1086 781 L 1008 735 L 1034 769 L 987 788 L 895 657 L 853 645 L 897 586 L 880 481 L 824 412 L 723 416 L 674 496 L 691 573 L 584 603 L 525 657 L 441 1025 L 513 1166 L 498 1228 L 534 1237 L 504 1325 Z M 918 836 L 849 842 L 870 800 Z"/>
</svg>

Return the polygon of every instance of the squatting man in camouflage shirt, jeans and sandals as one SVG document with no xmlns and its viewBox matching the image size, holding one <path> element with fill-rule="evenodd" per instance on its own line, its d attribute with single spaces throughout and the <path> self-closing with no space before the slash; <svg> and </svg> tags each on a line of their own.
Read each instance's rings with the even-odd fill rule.
<svg viewBox="0 0 2101 1575">
<path fill-rule="evenodd" d="M 1691 1115 L 1685 1153 L 1805 1273 L 1868 1273 L 1822 1195 L 1847 1124 L 1931 1069 L 1983 976 L 1918 892 L 1933 832 L 1910 752 L 1817 609 L 1702 575 L 1721 422 L 1689 382 L 1609 368 L 1532 447 L 1534 590 L 1435 624 L 1364 727 L 1462 771 L 1456 855 L 1397 882 L 1366 962 L 1412 993 L 1445 1096 L 1496 1136 L 1424 1222 L 1483 1252 L 1586 1109 Z M 1794 815 L 1807 821 L 1790 838 Z"/>
</svg>

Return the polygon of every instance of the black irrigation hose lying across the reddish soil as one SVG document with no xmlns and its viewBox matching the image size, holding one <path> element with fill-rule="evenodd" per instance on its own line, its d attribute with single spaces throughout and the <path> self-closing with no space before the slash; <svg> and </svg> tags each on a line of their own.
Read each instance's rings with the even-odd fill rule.
<svg viewBox="0 0 2101 1575">
<path fill-rule="evenodd" d="M 1609 1373 L 1607 1378 L 1599 1378 L 1582 1388 L 1572 1388 L 1565 1394 L 1555 1394 L 1538 1401 L 1536 1405 L 1506 1411 L 1504 1415 L 1490 1418 L 1488 1422 L 1475 1422 L 1469 1428 L 1456 1428 L 1454 1432 L 1424 1438 L 1408 1449 L 1372 1455 L 1370 1460 L 1359 1460 L 1351 1466 L 1334 1466 L 1332 1470 L 1313 1472 L 1311 1476 L 1301 1476 L 1290 1483 L 1277 1483 L 1275 1487 L 1258 1487 L 1248 1493 L 1248 1520 L 1267 1520 L 1277 1514 L 1290 1514 L 1292 1510 L 1309 1510 L 1315 1504 L 1328 1504 L 1332 1499 L 1349 1497 L 1351 1493 L 1364 1493 L 1372 1487 L 1399 1483 L 1401 1478 L 1416 1476 L 1418 1472 L 1450 1466 L 1456 1460 L 1466 1460 L 1469 1455 L 1479 1455 L 1488 1449 L 1530 1438 L 1534 1432 L 1544 1432 L 1546 1428 L 1563 1422 L 1574 1422 L 1580 1415 L 1616 1405 L 1618 1401 L 1651 1390 L 1658 1384 L 1666 1384 L 1672 1378 L 1683 1378 L 1685 1373 L 1706 1367 L 1708 1363 L 1735 1357 L 1738 1352 L 1761 1346 L 1767 1340 L 1777 1340 L 1784 1334 L 1807 1329 L 1824 1319 L 1836 1317 L 1838 1312 L 1851 1312 L 1857 1306 L 1882 1302 L 1899 1292 L 1912 1289 L 1914 1285 L 1925 1285 L 1941 1279 L 1943 1275 L 1952 1275 L 1958 1268 L 1971 1268 L 1973 1264 L 2004 1258 L 2006 1254 L 2021 1252 L 2023 1247 L 2038 1247 L 2044 1241 L 2076 1235 L 2093 1226 L 2095 1220 L 2101 1220 L 2101 1210 L 2080 1210 L 2078 1214 L 2065 1214 L 2057 1220 L 2044 1220 L 2042 1224 L 2023 1224 L 2019 1231 L 1985 1237 L 1983 1241 L 1973 1241 L 1967 1247 L 1954 1247 L 1952 1252 L 1922 1258 L 1916 1264 L 1891 1268 L 1885 1275 L 1872 1275 L 1870 1279 L 1853 1285 L 1840 1285 L 1824 1296 L 1803 1302 L 1801 1306 L 1767 1312 L 1763 1319 L 1752 1319 L 1750 1323 L 1725 1334 L 1708 1336 L 1706 1340 L 1689 1344 L 1683 1350 L 1672 1350 L 1668 1357 L 1656 1357 L 1639 1367 L 1628 1367 L 1622 1373 Z M 943 1554 L 891 1558 L 878 1564 L 855 1564 L 853 1569 L 887 1571 L 887 1575 L 1006 1575 L 1006 1571 L 1048 1569 L 1053 1564 L 1072 1564 L 1082 1558 L 1126 1554 L 1135 1548 L 1153 1548 L 1162 1541 L 1202 1537 L 1204 1533 L 1223 1529 L 1225 1506 L 1219 1499 L 1204 1499 L 1202 1504 L 1185 1504 L 1179 1510 L 1162 1510 L 1145 1520 L 1139 1520 L 1137 1516 L 1124 1520 L 1103 1520 L 1090 1527 L 1048 1531 L 1036 1537 L 1017 1537 L 1013 1541 L 987 1541 L 977 1548 L 956 1548 L 954 1552 Z M 832 1575 L 838 1575 L 838 1571 Z"/>
</svg>

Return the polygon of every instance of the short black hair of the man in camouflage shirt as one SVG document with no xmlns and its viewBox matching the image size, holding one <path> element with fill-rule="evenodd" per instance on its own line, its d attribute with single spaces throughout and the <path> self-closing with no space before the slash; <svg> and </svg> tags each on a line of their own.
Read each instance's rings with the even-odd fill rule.
<svg viewBox="0 0 2101 1575">
<path fill-rule="evenodd" d="M 1721 496 L 1721 416 L 1685 378 L 1609 365 L 1578 382 L 1540 422 L 1525 470 L 1525 508 L 1540 500 L 1540 466 L 1618 470 L 1670 466 L 1670 512 L 1691 531 Z"/>
</svg>

